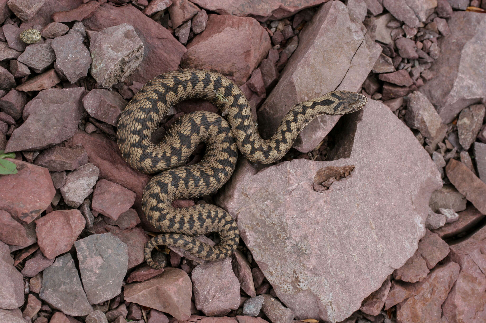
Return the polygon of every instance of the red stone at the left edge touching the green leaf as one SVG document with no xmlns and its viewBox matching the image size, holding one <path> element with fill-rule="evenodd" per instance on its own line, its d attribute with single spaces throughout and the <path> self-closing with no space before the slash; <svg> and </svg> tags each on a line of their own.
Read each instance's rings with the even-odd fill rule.
<svg viewBox="0 0 486 323">
<path fill-rule="evenodd" d="M 56 193 L 51 175 L 46 168 L 17 159 L 6 160 L 17 165 L 17 174 L 0 176 L 0 209 L 30 223 L 51 204 Z"/>
</svg>

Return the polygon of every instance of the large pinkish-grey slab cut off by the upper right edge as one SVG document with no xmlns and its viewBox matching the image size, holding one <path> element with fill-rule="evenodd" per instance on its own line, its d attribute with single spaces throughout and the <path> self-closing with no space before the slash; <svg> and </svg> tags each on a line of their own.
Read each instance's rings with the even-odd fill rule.
<svg viewBox="0 0 486 323">
<path fill-rule="evenodd" d="M 486 67 L 481 54 L 486 46 L 485 26 L 485 15 L 456 11 L 449 19 L 451 34 L 437 41 L 441 55 L 431 67 L 436 77 L 420 87 L 420 92 L 437 108 L 444 123 L 486 96 Z"/>
</svg>

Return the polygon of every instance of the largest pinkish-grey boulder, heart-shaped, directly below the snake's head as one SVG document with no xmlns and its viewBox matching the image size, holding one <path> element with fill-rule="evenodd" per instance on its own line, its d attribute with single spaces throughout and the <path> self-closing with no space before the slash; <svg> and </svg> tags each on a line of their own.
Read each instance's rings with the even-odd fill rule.
<svg viewBox="0 0 486 323">
<path fill-rule="evenodd" d="M 216 200 L 238 217 L 243 241 L 297 319 L 341 321 L 359 308 L 414 254 L 430 195 L 442 185 L 430 156 L 388 107 L 371 100 L 345 118 L 332 161 L 294 159 L 257 173 L 242 160 Z M 345 180 L 312 190 L 319 169 L 350 165 Z M 344 235 L 346 245 L 320 238 Z"/>
</svg>

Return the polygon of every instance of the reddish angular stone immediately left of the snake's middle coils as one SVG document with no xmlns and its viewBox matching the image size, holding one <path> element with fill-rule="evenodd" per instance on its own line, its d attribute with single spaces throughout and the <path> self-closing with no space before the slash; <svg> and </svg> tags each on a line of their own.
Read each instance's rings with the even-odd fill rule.
<svg viewBox="0 0 486 323">
<path fill-rule="evenodd" d="M 117 220 L 134 202 L 134 192 L 119 184 L 102 179 L 98 181 L 94 189 L 91 208 L 93 211 Z"/>
</svg>

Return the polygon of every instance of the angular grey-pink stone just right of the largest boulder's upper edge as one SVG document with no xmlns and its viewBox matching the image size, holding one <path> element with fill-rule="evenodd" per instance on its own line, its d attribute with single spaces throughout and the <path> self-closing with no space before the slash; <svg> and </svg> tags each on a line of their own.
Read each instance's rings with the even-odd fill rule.
<svg viewBox="0 0 486 323">
<path fill-rule="evenodd" d="M 409 95 L 405 122 L 426 138 L 435 138 L 444 127 L 442 119 L 425 95 L 415 91 Z"/>
</svg>

